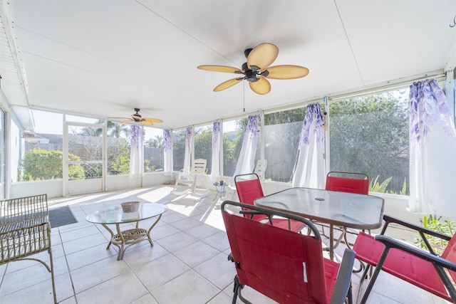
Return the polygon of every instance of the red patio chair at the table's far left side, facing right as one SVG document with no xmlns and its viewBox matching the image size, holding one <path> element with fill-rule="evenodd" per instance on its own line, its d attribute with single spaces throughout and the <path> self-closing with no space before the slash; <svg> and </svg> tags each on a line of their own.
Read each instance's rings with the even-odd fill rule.
<svg viewBox="0 0 456 304">
<path fill-rule="evenodd" d="M 242 179 L 249 177 L 252 179 Z M 254 200 L 259 197 L 263 197 L 263 188 L 261 187 L 261 181 L 256 173 L 239 174 L 234 177 L 234 184 L 236 184 L 237 196 L 239 201 L 244 204 L 254 205 Z M 301 231 L 304 228 L 304 224 L 300 221 L 289 221 L 288 219 L 276 219 L 269 214 L 258 214 L 249 209 L 249 211 L 243 210 L 241 212 L 244 217 L 253 219 L 254 221 L 266 222 L 266 224 L 277 226 L 283 229 L 289 229 L 292 231 Z"/>
</svg>

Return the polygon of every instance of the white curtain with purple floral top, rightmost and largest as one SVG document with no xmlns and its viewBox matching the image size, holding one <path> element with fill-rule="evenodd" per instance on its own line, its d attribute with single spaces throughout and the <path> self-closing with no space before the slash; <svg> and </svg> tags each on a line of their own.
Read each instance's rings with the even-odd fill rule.
<svg viewBox="0 0 456 304">
<path fill-rule="evenodd" d="M 410 85 L 410 201 L 420 214 L 456 214 L 455 122 L 437 80 Z"/>
</svg>

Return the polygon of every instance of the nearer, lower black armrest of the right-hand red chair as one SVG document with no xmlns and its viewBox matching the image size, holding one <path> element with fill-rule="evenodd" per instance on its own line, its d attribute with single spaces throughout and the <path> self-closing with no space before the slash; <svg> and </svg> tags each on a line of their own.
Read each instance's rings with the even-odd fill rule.
<svg viewBox="0 0 456 304">
<path fill-rule="evenodd" d="M 442 267 L 445 267 L 447 269 L 450 269 L 451 271 L 456 271 L 456 263 L 452 263 L 445 258 L 441 258 L 440 256 L 436 256 L 432 253 L 429 253 L 427 251 L 423 251 L 419 248 L 410 246 L 406 243 L 397 241 L 390 236 L 382 236 L 382 235 L 377 235 L 375 236 L 375 241 L 380 241 L 383 243 L 386 247 L 388 248 L 397 248 L 401 251 L 405 251 L 407 253 L 412 254 L 413 256 L 418 256 L 418 258 L 423 258 L 423 260 L 430 261 L 431 263 L 438 264 Z"/>
</svg>

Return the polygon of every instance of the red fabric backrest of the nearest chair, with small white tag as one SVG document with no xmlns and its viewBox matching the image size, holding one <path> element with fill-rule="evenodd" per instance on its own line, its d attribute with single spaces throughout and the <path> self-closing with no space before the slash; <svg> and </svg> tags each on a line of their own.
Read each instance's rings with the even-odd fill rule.
<svg viewBox="0 0 456 304">
<path fill-rule="evenodd" d="M 228 212 L 222 216 L 239 283 L 278 303 L 328 303 L 321 241 Z"/>
</svg>

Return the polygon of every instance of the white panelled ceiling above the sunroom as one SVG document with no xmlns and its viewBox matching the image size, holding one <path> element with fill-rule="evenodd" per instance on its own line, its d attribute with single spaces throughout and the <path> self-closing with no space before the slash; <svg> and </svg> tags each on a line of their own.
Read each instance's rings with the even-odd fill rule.
<svg viewBox="0 0 456 304">
<path fill-rule="evenodd" d="M 28 88 L 17 95 L 21 83 L 5 79 L 2 61 L 13 109 L 103 118 L 141 108 L 163 128 L 442 72 L 456 53 L 454 0 L 0 1 Z M 302 65 L 309 75 L 270 80 L 267 95 L 245 81 L 214 93 L 236 75 L 196 68 L 240 68 L 244 49 L 263 42 L 279 47 L 272 65 Z"/>
</svg>

